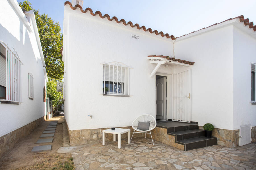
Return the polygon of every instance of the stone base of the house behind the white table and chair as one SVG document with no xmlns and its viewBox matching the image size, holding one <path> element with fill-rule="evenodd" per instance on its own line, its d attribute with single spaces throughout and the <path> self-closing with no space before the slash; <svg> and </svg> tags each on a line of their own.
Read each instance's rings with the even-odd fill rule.
<svg viewBox="0 0 256 170">
<path fill-rule="evenodd" d="M 67 123 L 66 123 L 67 125 Z M 118 127 L 124 129 L 131 129 L 131 137 L 133 135 L 134 129 L 131 126 L 128 127 Z M 74 145 L 85 145 L 90 143 L 102 143 L 102 130 L 109 128 L 100 128 L 100 129 L 82 129 L 82 130 L 69 130 L 67 125 L 68 134 L 69 134 L 69 143 L 70 146 Z M 127 141 L 128 133 L 121 135 L 121 140 Z M 134 133 L 133 138 L 145 137 L 142 133 Z M 117 139 L 117 137 L 116 137 Z M 105 133 L 105 142 L 113 141 L 113 134 Z"/>
</svg>

